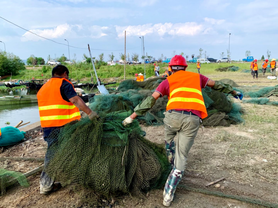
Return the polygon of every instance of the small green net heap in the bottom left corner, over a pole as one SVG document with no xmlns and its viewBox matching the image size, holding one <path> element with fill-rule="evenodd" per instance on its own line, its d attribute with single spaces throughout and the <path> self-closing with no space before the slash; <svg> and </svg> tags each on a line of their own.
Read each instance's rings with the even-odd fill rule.
<svg viewBox="0 0 278 208">
<path fill-rule="evenodd" d="M 29 186 L 26 177 L 22 173 L 0 169 L 0 196 L 5 194 L 7 188 L 17 185 Z"/>
</svg>

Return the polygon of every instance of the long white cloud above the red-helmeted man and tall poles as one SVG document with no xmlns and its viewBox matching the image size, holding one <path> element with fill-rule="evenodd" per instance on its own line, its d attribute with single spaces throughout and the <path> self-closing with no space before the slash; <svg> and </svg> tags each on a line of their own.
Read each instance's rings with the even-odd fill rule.
<svg viewBox="0 0 278 208">
<path fill-rule="evenodd" d="M 154 24 L 145 24 L 137 26 L 115 26 L 118 37 L 124 37 L 125 31 L 128 36 L 140 36 L 146 34 L 158 34 L 163 36 L 165 34 L 169 35 L 197 35 L 200 34 L 204 27 L 202 24 L 197 24 L 196 22 L 185 22 L 185 23 L 158 23 Z"/>
</svg>

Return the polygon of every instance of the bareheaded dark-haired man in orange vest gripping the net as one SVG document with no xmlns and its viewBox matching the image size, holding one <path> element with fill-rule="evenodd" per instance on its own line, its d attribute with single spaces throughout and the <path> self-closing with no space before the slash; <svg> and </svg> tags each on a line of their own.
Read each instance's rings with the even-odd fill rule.
<svg viewBox="0 0 278 208">
<path fill-rule="evenodd" d="M 63 65 L 58 65 L 52 70 L 50 81 L 46 82 L 38 94 L 39 116 L 41 127 L 44 131 L 44 140 L 48 144 L 45 154 L 44 167 L 49 164 L 53 152 L 49 147 L 57 140 L 51 136 L 51 132 L 63 127 L 65 124 L 80 120 L 80 110 L 88 114 L 91 120 L 100 116 L 92 111 L 84 101 L 76 94 L 72 83 L 69 81 L 69 70 Z M 49 194 L 61 188 L 59 182 L 49 177 L 44 171 L 40 177 L 40 194 Z"/>
</svg>

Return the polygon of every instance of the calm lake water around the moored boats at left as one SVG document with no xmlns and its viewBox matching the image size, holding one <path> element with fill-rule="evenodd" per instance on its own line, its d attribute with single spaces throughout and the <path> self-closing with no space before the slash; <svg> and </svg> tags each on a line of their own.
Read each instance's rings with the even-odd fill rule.
<svg viewBox="0 0 278 208">
<path fill-rule="evenodd" d="M 85 93 L 96 93 L 98 90 L 94 88 L 82 88 Z M 38 90 L 0 90 L 0 95 L 36 95 Z M 0 105 L 0 127 L 15 126 L 19 121 L 30 124 L 39 121 L 39 109 L 38 103 L 24 104 L 24 105 Z M 9 125 L 5 125 L 6 122 L 10 122 Z"/>
</svg>

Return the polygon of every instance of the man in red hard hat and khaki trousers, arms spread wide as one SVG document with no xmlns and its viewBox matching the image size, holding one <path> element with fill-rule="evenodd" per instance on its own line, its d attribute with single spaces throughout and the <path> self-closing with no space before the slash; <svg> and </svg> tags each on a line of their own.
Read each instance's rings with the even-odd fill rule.
<svg viewBox="0 0 278 208">
<path fill-rule="evenodd" d="M 134 113 L 123 121 L 126 126 L 137 117 L 146 113 L 155 105 L 158 98 L 168 96 L 168 104 L 165 111 L 164 133 L 165 149 L 172 172 L 165 184 L 163 192 L 163 205 L 169 207 L 177 185 L 182 179 L 186 168 L 188 152 L 197 135 L 200 119 L 207 117 L 207 110 L 202 96 L 202 88 L 209 86 L 219 92 L 232 94 L 235 98 L 243 95 L 233 90 L 233 87 L 220 81 L 214 81 L 202 74 L 186 71 L 187 62 L 182 55 L 175 55 L 169 66 L 172 75 L 161 82 L 155 92 L 137 105 Z M 177 135 L 177 147 L 174 137 Z"/>
</svg>

